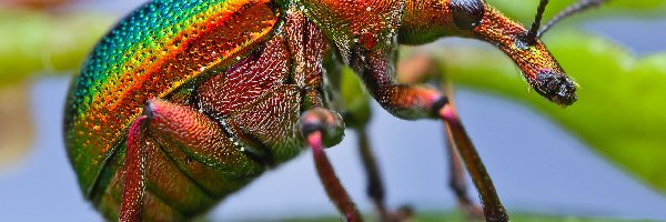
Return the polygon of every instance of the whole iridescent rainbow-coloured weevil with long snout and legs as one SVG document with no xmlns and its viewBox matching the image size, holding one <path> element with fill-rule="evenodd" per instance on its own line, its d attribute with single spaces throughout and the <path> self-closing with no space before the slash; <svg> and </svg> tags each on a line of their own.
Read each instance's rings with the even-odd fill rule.
<svg viewBox="0 0 666 222">
<path fill-rule="evenodd" d="M 181 221 L 310 147 L 332 202 L 361 221 L 323 150 L 354 121 L 336 97 L 339 68 L 349 65 L 393 115 L 443 120 L 485 219 L 507 221 L 453 104 L 434 88 L 396 83 L 395 54 L 398 44 L 478 39 L 541 95 L 569 105 L 575 84 L 538 39 L 552 26 L 538 30 L 546 4 L 527 30 L 483 0 L 153 0 L 103 37 L 73 79 L 68 155 L 105 219 Z M 383 193 L 371 196 L 391 220 Z"/>
</svg>

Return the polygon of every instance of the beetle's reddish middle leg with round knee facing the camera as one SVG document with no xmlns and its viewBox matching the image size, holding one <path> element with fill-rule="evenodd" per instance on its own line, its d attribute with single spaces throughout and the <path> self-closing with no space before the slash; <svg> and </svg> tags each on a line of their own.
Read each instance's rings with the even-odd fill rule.
<svg viewBox="0 0 666 222">
<path fill-rule="evenodd" d="M 339 114 L 323 108 L 313 108 L 301 115 L 301 133 L 312 149 L 314 164 L 326 194 L 347 221 L 362 221 L 361 213 L 340 183 L 323 150 L 326 138 L 340 137 L 336 129 L 343 125 Z"/>
</svg>

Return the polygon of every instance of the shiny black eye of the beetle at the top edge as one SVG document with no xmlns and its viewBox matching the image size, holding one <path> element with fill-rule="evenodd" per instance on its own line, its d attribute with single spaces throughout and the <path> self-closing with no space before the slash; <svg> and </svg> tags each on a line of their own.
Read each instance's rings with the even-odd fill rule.
<svg viewBox="0 0 666 222">
<path fill-rule="evenodd" d="M 451 0 L 453 23 L 458 29 L 472 30 L 481 23 L 484 14 L 483 0 Z"/>
</svg>

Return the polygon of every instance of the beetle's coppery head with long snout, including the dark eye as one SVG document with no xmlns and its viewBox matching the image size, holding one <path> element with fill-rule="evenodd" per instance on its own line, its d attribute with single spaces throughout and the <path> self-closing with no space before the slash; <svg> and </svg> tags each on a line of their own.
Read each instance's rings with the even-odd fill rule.
<svg viewBox="0 0 666 222">
<path fill-rule="evenodd" d="M 531 30 L 508 19 L 483 0 L 451 0 L 454 26 L 463 36 L 490 42 L 506 53 L 523 72 L 527 83 L 541 95 L 559 105 L 576 101 L 576 87 L 538 39 L 542 1 Z"/>
</svg>

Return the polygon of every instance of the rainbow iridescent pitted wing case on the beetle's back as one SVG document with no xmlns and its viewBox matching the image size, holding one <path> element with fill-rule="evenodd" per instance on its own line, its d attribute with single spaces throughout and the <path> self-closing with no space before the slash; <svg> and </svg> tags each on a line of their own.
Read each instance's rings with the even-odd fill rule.
<svg viewBox="0 0 666 222">
<path fill-rule="evenodd" d="M 244 59 L 279 17 L 268 0 L 159 0 L 121 20 L 89 56 L 65 105 L 64 140 L 84 196 L 97 205 L 107 195 L 127 128 L 148 100 L 176 99 Z"/>
</svg>

